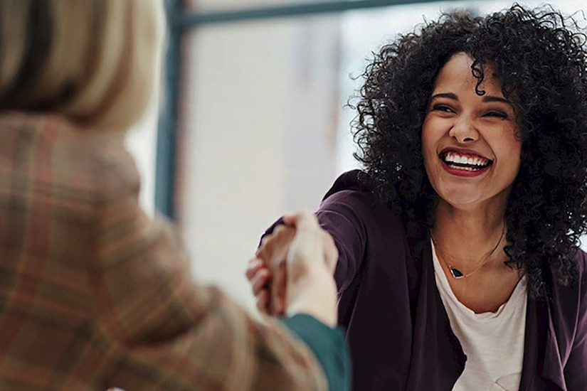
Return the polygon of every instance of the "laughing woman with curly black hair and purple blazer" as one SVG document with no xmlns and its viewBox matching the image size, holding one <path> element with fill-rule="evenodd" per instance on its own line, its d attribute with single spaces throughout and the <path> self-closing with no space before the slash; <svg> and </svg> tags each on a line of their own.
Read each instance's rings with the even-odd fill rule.
<svg viewBox="0 0 587 391">
<path fill-rule="evenodd" d="M 551 9 L 455 12 L 367 67 L 364 171 L 317 212 L 354 390 L 587 389 L 587 50 L 571 27 Z M 265 311 L 269 275 L 248 269 Z"/>
</svg>

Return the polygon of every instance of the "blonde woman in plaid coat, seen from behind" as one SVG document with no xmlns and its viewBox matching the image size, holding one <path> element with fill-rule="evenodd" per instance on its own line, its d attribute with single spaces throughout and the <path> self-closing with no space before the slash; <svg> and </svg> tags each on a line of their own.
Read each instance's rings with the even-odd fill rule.
<svg viewBox="0 0 587 391">
<path fill-rule="evenodd" d="M 312 215 L 259 250 L 292 289 L 287 318 L 258 323 L 194 285 L 139 208 L 124 131 L 151 97 L 159 7 L 0 1 L 0 389 L 344 390 L 336 248 Z"/>
</svg>

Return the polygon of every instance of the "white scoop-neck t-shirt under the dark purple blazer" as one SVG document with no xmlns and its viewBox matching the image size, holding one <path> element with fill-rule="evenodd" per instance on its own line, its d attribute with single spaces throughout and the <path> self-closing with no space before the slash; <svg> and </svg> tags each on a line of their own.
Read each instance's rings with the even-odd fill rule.
<svg viewBox="0 0 587 391">
<path fill-rule="evenodd" d="M 518 391 L 522 378 L 526 329 L 526 276 L 497 312 L 475 314 L 456 298 L 440 265 L 434 244 L 436 286 L 450 327 L 467 355 L 465 370 L 453 391 Z"/>
</svg>

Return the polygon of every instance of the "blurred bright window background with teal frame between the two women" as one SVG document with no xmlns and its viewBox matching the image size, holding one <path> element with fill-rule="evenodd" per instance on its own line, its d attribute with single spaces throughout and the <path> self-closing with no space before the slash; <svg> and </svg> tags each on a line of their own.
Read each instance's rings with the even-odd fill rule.
<svg viewBox="0 0 587 391">
<path fill-rule="evenodd" d="M 263 230 L 287 211 L 313 210 L 340 173 L 358 167 L 347 102 L 371 52 L 442 11 L 486 14 L 512 4 L 165 3 L 161 87 L 127 139 L 142 173 L 141 202 L 176 221 L 195 278 L 252 311 L 244 271 Z M 551 4 L 586 24 L 584 0 Z"/>
</svg>

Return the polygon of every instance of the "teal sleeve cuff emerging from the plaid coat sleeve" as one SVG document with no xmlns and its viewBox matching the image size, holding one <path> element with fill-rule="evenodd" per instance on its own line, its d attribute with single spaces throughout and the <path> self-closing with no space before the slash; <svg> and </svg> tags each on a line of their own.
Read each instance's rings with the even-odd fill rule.
<svg viewBox="0 0 587 391">
<path fill-rule="evenodd" d="M 327 377 L 331 391 L 351 388 L 351 360 L 342 328 L 330 328 L 316 318 L 298 314 L 282 323 L 310 347 Z"/>
</svg>

